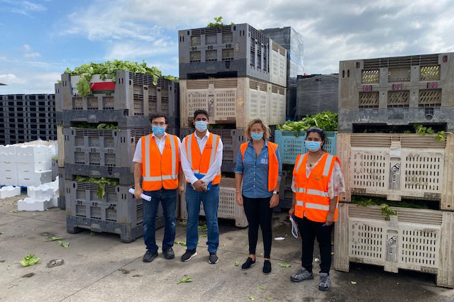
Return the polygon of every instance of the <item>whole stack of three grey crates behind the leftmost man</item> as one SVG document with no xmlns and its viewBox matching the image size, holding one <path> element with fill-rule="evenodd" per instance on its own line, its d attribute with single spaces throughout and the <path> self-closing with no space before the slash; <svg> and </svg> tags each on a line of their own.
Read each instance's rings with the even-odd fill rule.
<svg viewBox="0 0 454 302">
<path fill-rule="evenodd" d="M 60 190 L 67 232 L 82 229 L 117 233 L 123 242 L 143 234 L 143 204 L 128 192 L 134 186 L 133 154 L 138 140 L 151 133 L 150 115 L 169 116 L 168 133 L 178 135 L 178 82 L 119 70 L 114 82 L 94 74 L 91 85 L 106 89 L 79 96 L 78 76 L 62 74 L 57 95 Z M 99 85 L 103 87 L 103 85 Z M 84 178 L 82 178 L 84 177 Z M 93 181 L 92 179 L 96 179 Z M 97 179 L 118 184 L 96 184 Z M 101 192 L 101 193 L 100 193 Z M 160 206 L 156 228 L 164 226 Z"/>
</svg>

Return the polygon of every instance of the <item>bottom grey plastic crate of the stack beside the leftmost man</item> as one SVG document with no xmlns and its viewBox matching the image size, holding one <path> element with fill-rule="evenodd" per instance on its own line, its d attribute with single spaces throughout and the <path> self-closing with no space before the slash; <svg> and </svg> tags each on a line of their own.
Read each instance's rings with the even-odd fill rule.
<svg viewBox="0 0 454 302">
<path fill-rule="evenodd" d="M 66 181 L 67 232 L 82 229 L 116 233 L 122 242 L 132 242 L 143 234 L 143 204 L 128 192 L 129 186 L 106 186 L 103 200 L 96 197 L 96 184 Z M 156 229 L 164 226 L 159 206 Z"/>
</svg>

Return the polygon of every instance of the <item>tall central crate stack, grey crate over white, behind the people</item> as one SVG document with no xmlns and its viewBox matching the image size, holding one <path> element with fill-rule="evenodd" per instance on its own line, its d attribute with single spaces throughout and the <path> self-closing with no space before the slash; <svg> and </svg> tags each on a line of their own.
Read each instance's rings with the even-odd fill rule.
<svg viewBox="0 0 454 302">
<path fill-rule="evenodd" d="M 243 208 L 236 204 L 236 158 L 250 118 L 268 125 L 285 121 L 287 50 L 246 23 L 179 30 L 178 38 L 180 135 L 194 132 L 194 111 L 209 113 L 209 131 L 223 141 L 218 217 L 245 227 Z M 181 203 L 186 218 L 184 197 Z"/>
</svg>

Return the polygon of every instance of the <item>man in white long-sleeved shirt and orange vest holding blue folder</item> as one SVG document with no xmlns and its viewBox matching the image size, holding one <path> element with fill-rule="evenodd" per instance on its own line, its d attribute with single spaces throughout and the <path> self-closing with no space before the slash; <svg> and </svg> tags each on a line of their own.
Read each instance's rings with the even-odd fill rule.
<svg viewBox="0 0 454 302">
<path fill-rule="evenodd" d="M 210 133 L 208 113 L 204 110 L 194 112 L 195 132 L 182 141 L 182 169 L 186 177 L 187 250 L 182 261 L 187 262 L 197 255 L 199 242 L 200 203 L 203 203 L 206 226 L 209 263 L 218 262 L 216 251 L 219 245 L 218 203 L 219 182 L 221 181 L 222 141 L 221 137 Z"/>
</svg>

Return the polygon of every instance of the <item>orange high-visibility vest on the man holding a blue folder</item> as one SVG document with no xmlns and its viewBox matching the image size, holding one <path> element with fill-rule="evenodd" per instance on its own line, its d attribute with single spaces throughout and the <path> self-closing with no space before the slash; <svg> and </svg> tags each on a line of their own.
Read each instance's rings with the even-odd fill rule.
<svg viewBox="0 0 454 302">
<path fill-rule="evenodd" d="M 194 174 L 206 175 L 209 167 L 213 165 L 214 159 L 216 158 L 216 150 L 218 150 L 219 135 L 209 133 L 208 140 L 204 147 L 204 152 L 200 152 L 199 144 L 196 140 L 196 134 L 192 133 L 187 135 L 184 142 L 186 148 L 187 160 L 189 165 L 192 167 Z M 188 180 L 186 180 L 189 182 Z M 218 174 L 214 177 L 211 184 L 219 184 L 221 182 L 221 169 Z"/>
</svg>

